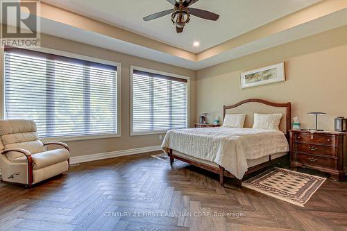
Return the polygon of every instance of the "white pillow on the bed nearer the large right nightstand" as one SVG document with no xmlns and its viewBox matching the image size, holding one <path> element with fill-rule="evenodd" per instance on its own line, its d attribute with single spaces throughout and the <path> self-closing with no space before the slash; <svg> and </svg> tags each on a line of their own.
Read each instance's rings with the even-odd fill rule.
<svg viewBox="0 0 347 231">
<path fill-rule="evenodd" d="M 254 113 L 253 128 L 280 130 L 282 114 L 258 114 Z"/>
</svg>

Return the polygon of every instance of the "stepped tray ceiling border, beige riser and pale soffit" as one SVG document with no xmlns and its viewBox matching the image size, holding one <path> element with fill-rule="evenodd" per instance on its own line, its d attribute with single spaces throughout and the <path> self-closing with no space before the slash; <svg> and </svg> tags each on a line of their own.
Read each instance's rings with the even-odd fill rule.
<svg viewBox="0 0 347 231">
<path fill-rule="evenodd" d="M 347 1 L 326 0 L 194 54 L 47 3 L 41 8 L 42 22 L 50 25 L 42 33 L 194 70 L 347 24 L 341 18 Z M 300 26 L 305 26 L 305 31 L 298 31 Z"/>
</svg>

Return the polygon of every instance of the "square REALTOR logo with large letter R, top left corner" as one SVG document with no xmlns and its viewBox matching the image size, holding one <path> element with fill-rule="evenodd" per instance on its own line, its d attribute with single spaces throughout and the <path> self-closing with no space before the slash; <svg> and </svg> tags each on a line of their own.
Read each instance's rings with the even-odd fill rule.
<svg viewBox="0 0 347 231">
<path fill-rule="evenodd" d="M 1 47 L 40 46 L 40 1 L 1 1 Z"/>
</svg>

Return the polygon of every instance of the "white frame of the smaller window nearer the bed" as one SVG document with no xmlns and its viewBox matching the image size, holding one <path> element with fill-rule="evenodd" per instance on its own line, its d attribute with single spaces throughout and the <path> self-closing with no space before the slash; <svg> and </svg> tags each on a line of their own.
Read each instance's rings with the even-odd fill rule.
<svg viewBox="0 0 347 231">
<path fill-rule="evenodd" d="M 134 130 L 133 129 L 133 119 L 134 119 L 133 118 L 133 78 L 134 78 L 134 70 L 146 71 L 146 72 L 151 72 L 153 74 L 160 74 L 163 76 L 182 78 L 182 79 L 187 80 L 187 127 L 189 128 L 189 124 L 190 124 L 190 94 L 189 94 L 190 93 L 190 77 L 130 65 L 130 136 L 164 134 L 168 131 L 168 130 L 156 130 L 156 131 L 152 131 L 152 132 L 134 132 L 133 131 Z"/>
</svg>

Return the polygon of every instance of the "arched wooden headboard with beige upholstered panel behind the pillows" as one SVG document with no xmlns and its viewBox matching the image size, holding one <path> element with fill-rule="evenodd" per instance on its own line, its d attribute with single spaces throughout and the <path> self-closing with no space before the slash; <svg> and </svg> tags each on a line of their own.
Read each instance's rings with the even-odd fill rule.
<svg viewBox="0 0 347 231">
<path fill-rule="evenodd" d="M 255 105 L 253 105 L 253 107 L 247 108 L 247 105 L 251 105 L 252 103 L 253 104 L 257 103 L 258 105 L 256 107 Z M 244 107 L 243 109 L 242 109 L 242 106 Z M 289 130 L 291 129 L 291 104 L 289 102 L 288 103 L 273 103 L 273 102 L 265 101 L 263 99 L 246 99 L 234 105 L 223 106 L 223 119 L 226 116 L 227 110 L 236 110 L 237 108 L 240 110 L 238 110 L 236 113 L 246 114 L 246 121 L 245 121 L 246 128 L 253 126 L 254 113 L 260 113 L 260 114 L 282 113 L 283 117 L 280 122 L 280 130 L 282 130 L 282 132 L 284 132 L 287 135 L 287 137 L 289 137 Z M 248 110 L 248 113 L 246 112 L 246 110 Z M 235 111 L 233 111 L 233 113 L 235 113 Z"/>
</svg>

